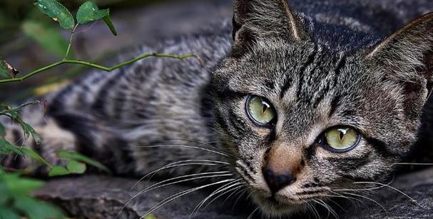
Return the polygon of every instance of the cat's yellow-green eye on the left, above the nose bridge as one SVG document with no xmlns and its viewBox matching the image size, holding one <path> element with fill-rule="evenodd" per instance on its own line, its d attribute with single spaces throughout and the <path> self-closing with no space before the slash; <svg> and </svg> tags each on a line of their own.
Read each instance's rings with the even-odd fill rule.
<svg viewBox="0 0 433 219">
<path fill-rule="evenodd" d="M 250 120 L 259 126 L 266 126 L 275 120 L 275 109 L 267 99 L 260 96 L 250 96 L 246 111 Z"/>
</svg>

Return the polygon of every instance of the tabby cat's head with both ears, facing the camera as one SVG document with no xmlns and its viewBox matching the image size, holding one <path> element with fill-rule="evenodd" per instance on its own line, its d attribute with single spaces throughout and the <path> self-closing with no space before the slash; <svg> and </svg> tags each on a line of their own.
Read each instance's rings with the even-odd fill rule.
<svg viewBox="0 0 433 219">
<path fill-rule="evenodd" d="M 387 178 L 417 139 L 433 14 L 343 54 L 310 39 L 285 0 L 234 6 L 233 50 L 213 72 L 215 123 L 263 212 L 292 213 Z"/>
</svg>

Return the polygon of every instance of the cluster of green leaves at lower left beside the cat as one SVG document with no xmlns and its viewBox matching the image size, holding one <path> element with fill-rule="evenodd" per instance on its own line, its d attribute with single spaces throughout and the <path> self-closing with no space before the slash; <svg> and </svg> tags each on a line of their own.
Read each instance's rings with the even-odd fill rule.
<svg viewBox="0 0 433 219">
<path fill-rule="evenodd" d="M 21 126 L 25 139 L 32 136 L 36 145 L 39 145 L 41 137 L 36 133 L 34 128 L 23 121 L 19 113 L 22 108 L 35 104 L 39 104 L 39 101 L 26 103 L 15 108 L 3 104 L 1 105 L 0 116 L 11 118 L 11 122 Z M 106 166 L 93 161 L 91 158 L 68 151 L 60 151 L 57 154 L 58 158 L 68 161 L 66 167 L 52 165 L 36 153 L 36 151 L 31 150 L 31 148 L 14 146 L 9 141 L 6 141 L 5 136 L 6 128 L 0 122 L 0 158 L 1 156 L 8 156 L 13 153 L 17 156 L 29 156 L 34 161 L 48 166 L 49 176 L 81 174 L 86 172 L 86 165 L 92 165 L 106 172 L 110 171 Z M 26 171 L 24 170 L 23 172 Z M 26 216 L 26 218 L 30 219 L 65 218 L 61 210 L 58 210 L 54 205 L 31 197 L 31 192 L 41 188 L 43 185 L 44 183 L 40 180 L 21 177 L 19 172 L 6 173 L 0 165 L 0 218 L 19 219 L 21 216 Z"/>
</svg>

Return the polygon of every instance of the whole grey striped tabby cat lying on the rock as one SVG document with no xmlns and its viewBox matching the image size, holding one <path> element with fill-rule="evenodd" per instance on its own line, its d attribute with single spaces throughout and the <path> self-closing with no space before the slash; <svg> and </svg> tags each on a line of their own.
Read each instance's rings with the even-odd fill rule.
<svg viewBox="0 0 433 219">
<path fill-rule="evenodd" d="M 22 113 L 43 138 L 33 147 L 58 164 L 56 151 L 78 151 L 117 175 L 140 177 L 172 163 L 160 178 L 203 173 L 215 185 L 245 186 L 269 217 L 376 188 L 419 139 L 432 89 L 433 14 L 383 38 L 412 14 L 367 24 L 387 11 L 352 1 L 297 3 L 302 12 L 285 0 L 235 0 L 231 25 L 143 49 L 193 51 L 201 63 L 149 58 L 49 94 L 46 115 Z M 6 138 L 34 145 L 20 142 L 14 124 Z M 22 157 L 1 163 L 46 173 Z"/>
</svg>

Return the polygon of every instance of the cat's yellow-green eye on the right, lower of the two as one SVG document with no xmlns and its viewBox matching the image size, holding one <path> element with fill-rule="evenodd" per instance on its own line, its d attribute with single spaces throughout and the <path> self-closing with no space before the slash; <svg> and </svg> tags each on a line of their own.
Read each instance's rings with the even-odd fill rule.
<svg viewBox="0 0 433 219">
<path fill-rule="evenodd" d="M 327 145 L 336 151 L 348 151 L 357 144 L 360 134 L 353 128 L 331 128 L 325 132 Z"/>
</svg>

